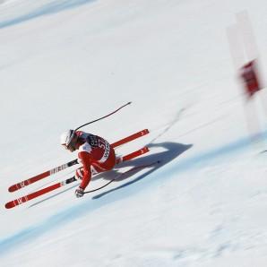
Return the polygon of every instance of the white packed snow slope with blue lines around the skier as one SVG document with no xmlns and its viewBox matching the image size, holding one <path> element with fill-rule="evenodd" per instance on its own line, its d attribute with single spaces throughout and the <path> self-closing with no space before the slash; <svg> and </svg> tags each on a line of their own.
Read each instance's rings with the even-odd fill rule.
<svg viewBox="0 0 267 267">
<path fill-rule="evenodd" d="M 227 34 L 244 11 L 264 73 L 263 0 L 0 1 L 1 267 L 266 266 L 265 90 L 246 101 Z M 4 208 L 73 176 L 7 191 L 75 159 L 59 135 L 128 101 L 83 130 L 115 142 L 149 128 L 116 152 L 151 152 L 117 171 L 159 164 Z"/>
</svg>

